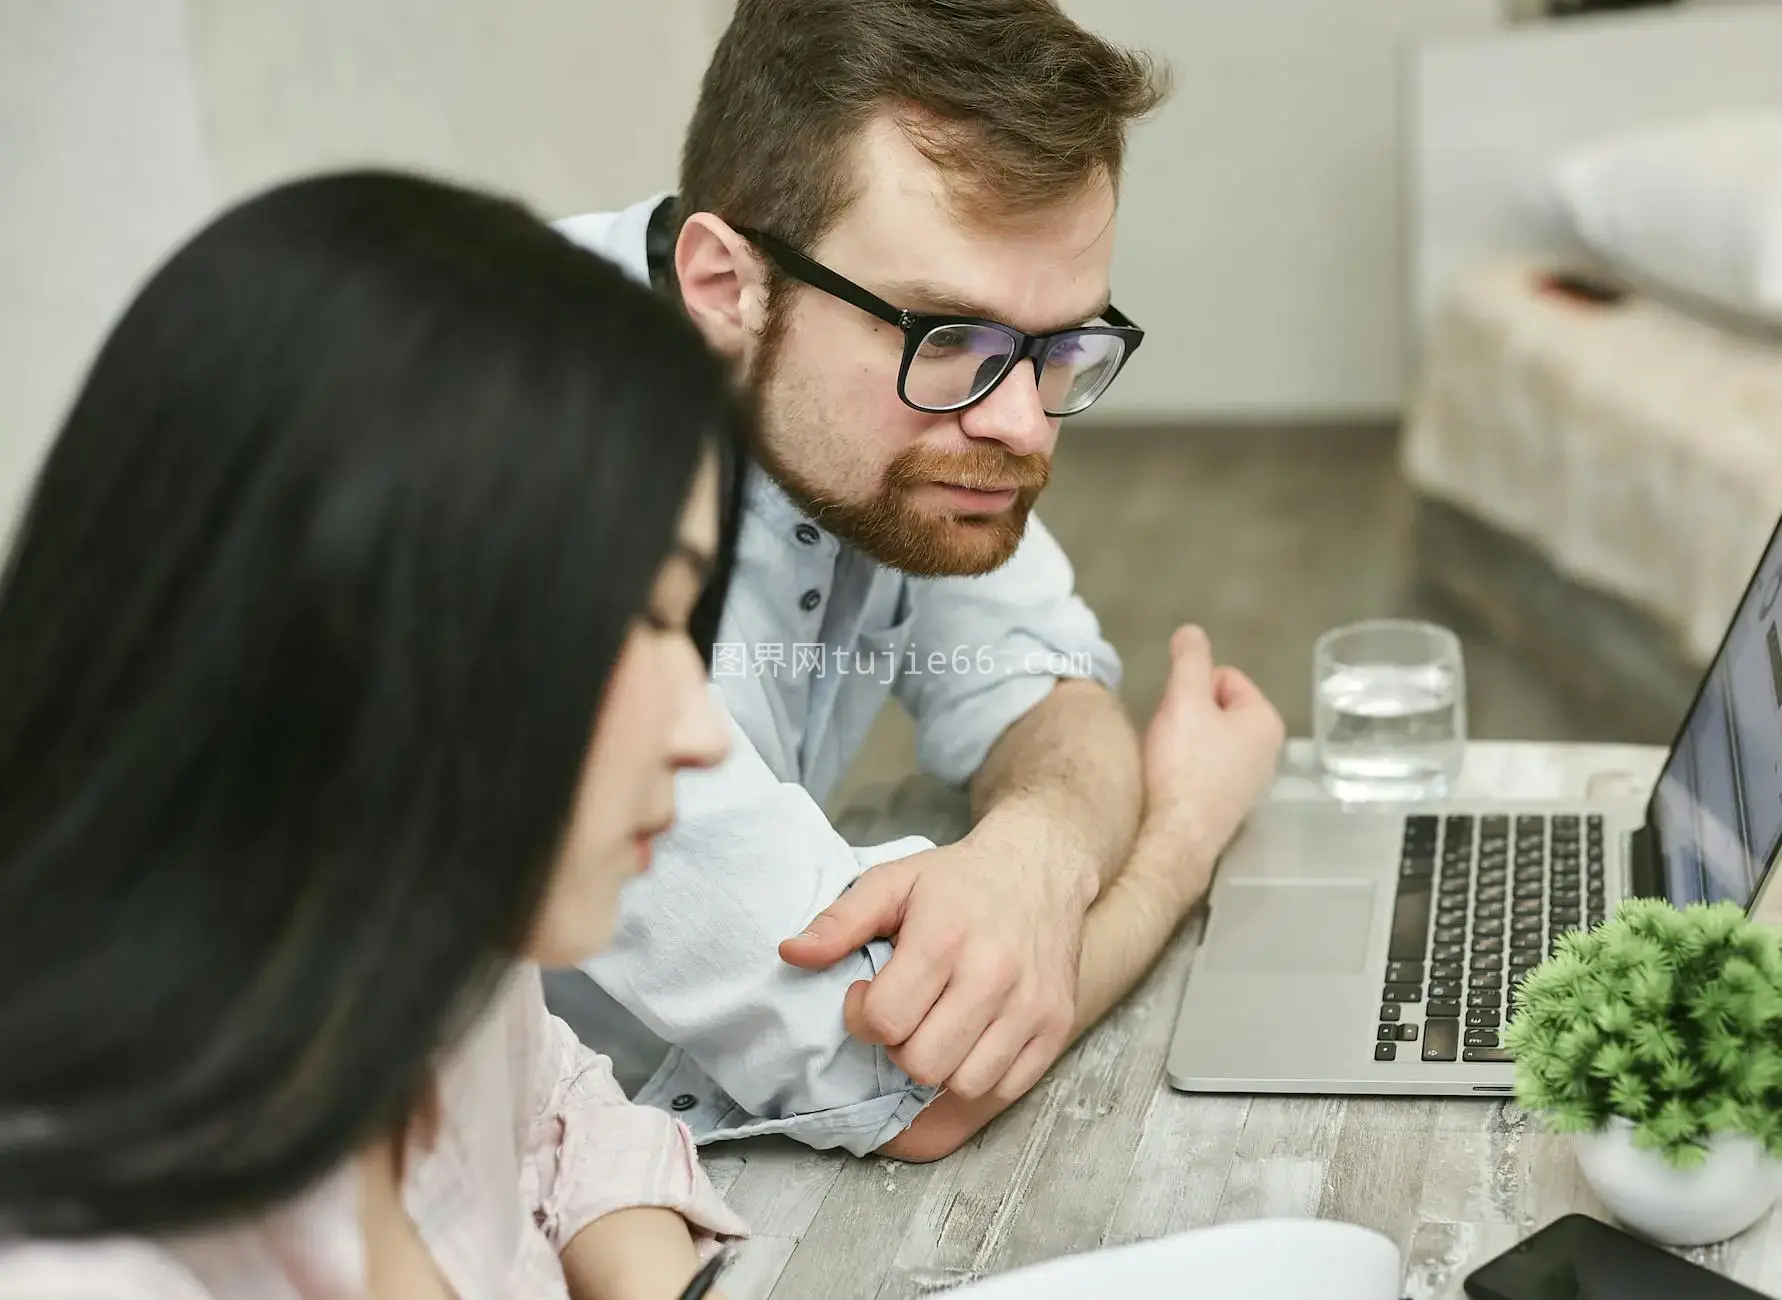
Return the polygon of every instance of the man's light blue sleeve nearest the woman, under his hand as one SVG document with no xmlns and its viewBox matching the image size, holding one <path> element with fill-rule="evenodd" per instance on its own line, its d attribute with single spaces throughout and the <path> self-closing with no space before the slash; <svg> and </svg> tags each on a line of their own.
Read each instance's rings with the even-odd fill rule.
<svg viewBox="0 0 1782 1300">
<path fill-rule="evenodd" d="M 936 1095 L 843 1022 L 848 988 L 871 979 L 891 946 L 875 940 L 832 967 L 800 971 L 779 944 L 868 867 L 934 844 L 852 848 L 804 787 L 773 775 L 727 709 L 725 718 L 729 757 L 677 778 L 674 830 L 658 841 L 649 874 L 627 887 L 613 944 L 583 969 L 674 1045 L 663 1081 L 695 1081 L 690 1101 L 697 1081 L 722 1090 L 729 1113 L 707 1117 L 709 1136 L 782 1133 L 864 1156 Z M 659 1092 L 652 1083 L 640 1097 Z"/>
</svg>

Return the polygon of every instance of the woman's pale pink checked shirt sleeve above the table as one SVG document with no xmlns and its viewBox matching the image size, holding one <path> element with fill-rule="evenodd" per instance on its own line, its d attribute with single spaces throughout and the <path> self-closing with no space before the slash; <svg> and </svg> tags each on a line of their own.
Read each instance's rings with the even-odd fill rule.
<svg viewBox="0 0 1782 1300">
<path fill-rule="evenodd" d="M 531 1200 L 551 1247 L 622 1209 L 672 1209 L 709 1254 L 748 1229 L 699 1163 L 693 1134 L 672 1115 L 625 1099 L 606 1058 L 584 1047 L 536 999 L 535 1113 L 526 1150 Z"/>
</svg>

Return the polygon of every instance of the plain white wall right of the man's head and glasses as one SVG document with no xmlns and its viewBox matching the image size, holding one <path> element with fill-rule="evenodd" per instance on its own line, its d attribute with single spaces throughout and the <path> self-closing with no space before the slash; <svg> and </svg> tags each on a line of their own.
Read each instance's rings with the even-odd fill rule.
<svg viewBox="0 0 1782 1300">
<path fill-rule="evenodd" d="M 1401 48 L 1497 25 L 1500 0 L 1066 0 L 1169 61 L 1139 128 L 1114 301 L 1146 326 L 1108 411 L 1399 408 Z"/>
</svg>

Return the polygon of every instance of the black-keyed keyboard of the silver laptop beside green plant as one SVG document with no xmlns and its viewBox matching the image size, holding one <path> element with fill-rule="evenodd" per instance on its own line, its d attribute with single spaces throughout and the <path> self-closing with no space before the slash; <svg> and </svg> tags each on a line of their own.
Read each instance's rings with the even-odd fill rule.
<svg viewBox="0 0 1782 1300">
<path fill-rule="evenodd" d="M 1374 1060 L 1406 1045 L 1424 1061 L 1508 1061 L 1499 1033 L 1522 976 L 1604 919 L 1602 864 L 1598 816 L 1406 817 Z"/>
</svg>

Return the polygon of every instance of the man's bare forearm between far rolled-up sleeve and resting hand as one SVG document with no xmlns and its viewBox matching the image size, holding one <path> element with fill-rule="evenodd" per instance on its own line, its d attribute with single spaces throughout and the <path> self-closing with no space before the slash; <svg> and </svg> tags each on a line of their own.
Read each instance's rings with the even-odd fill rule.
<svg viewBox="0 0 1782 1300">
<path fill-rule="evenodd" d="M 971 782 L 973 835 L 1078 871 L 1094 898 L 1132 853 L 1139 737 L 1101 684 L 1053 687 L 991 750 Z"/>
</svg>

